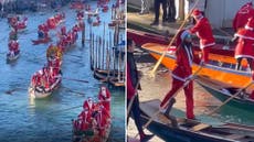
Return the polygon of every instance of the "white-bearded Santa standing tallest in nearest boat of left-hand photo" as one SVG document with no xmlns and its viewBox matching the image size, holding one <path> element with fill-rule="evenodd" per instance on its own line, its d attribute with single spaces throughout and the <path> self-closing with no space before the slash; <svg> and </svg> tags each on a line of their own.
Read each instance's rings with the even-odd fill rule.
<svg viewBox="0 0 254 142">
<path fill-rule="evenodd" d="M 110 112 L 112 95 L 110 95 L 109 90 L 105 86 L 100 87 L 100 89 L 99 89 L 98 100 L 102 102 L 102 105 L 104 106 L 104 108 L 108 112 Z"/>
</svg>

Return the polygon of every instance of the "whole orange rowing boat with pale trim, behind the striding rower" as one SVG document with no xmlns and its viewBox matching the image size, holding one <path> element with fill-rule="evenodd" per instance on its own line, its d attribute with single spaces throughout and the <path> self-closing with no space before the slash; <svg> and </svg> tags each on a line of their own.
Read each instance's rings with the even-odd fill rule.
<svg viewBox="0 0 254 142">
<path fill-rule="evenodd" d="M 149 52 L 156 59 L 159 59 L 163 52 L 167 52 L 161 64 L 172 70 L 176 66 L 176 56 L 172 52 L 173 50 L 170 50 L 171 54 L 166 51 L 167 46 L 168 45 L 147 43 L 144 44 L 141 48 Z M 173 48 L 173 46 L 171 48 Z M 195 51 L 194 54 L 197 55 L 199 53 Z M 208 78 L 213 78 L 214 80 L 225 83 L 237 88 L 246 86 L 252 80 L 251 73 L 245 65 L 242 66 L 242 70 L 234 69 L 236 63 L 234 57 L 210 53 L 209 58 L 212 64 L 205 64 L 198 75 L 207 76 Z M 246 64 L 246 61 L 244 62 Z M 200 65 L 194 63 L 192 65 L 192 72 L 194 73 L 199 67 Z M 254 89 L 254 86 L 250 87 L 250 89 Z"/>
</svg>

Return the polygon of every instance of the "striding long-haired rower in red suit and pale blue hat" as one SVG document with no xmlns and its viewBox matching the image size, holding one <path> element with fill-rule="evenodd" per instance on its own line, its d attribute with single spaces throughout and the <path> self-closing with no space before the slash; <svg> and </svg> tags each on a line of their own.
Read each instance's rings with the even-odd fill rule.
<svg viewBox="0 0 254 142">
<path fill-rule="evenodd" d="M 174 94 L 178 91 L 178 89 L 180 89 L 192 75 L 191 65 L 193 61 L 193 51 L 191 45 L 191 35 L 188 30 L 183 30 L 178 34 L 176 56 L 177 65 L 172 70 L 172 87 L 160 103 L 160 110 L 163 112 L 169 102 L 173 100 Z M 194 119 L 193 81 L 190 80 L 183 89 L 186 94 L 187 118 Z"/>
</svg>

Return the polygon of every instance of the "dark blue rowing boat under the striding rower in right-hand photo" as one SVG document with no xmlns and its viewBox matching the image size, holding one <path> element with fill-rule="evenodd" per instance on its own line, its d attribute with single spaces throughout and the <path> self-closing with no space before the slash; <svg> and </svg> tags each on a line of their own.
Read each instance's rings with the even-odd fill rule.
<svg viewBox="0 0 254 142">
<path fill-rule="evenodd" d="M 178 127 L 162 113 L 154 117 L 159 110 L 160 100 L 149 100 L 140 103 L 141 123 L 155 118 L 148 130 L 167 142 L 253 142 L 254 127 L 236 123 L 208 124 L 197 120 L 177 118 Z"/>
</svg>

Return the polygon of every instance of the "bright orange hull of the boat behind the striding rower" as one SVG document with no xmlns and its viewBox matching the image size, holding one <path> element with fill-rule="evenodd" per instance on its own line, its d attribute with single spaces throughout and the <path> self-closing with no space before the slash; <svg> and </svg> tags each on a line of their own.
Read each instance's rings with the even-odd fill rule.
<svg viewBox="0 0 254 142">
<path fill-rule="evenodd" d="M 142 45 L 142 50 L 150 53 L 150 55 L 156 58 L 157 61 L 160 58 L 160 56 L 163 54 L 165 48 L 167 48 L 167 45 L 160 45 L 160 44 L 148 43 Z M 223 55 L 212 55 L 210 54 L 214 59 L 218 58 L 224 58 L 229 62 L 235 62 L 234 58 Z M 172 54 L 166 53 L 166 56 L 163 57 L 162 65 L 165 65 L 169 70 L 172 70 L 176 66 L 176 57 Z M 192 73 L 194 73 L 200 67 L 199 64 L 192 64 Z M 226 67 L 220 67 L 214 65 L 205 65 L 202 67 L 202 69 L 198 73 L 198 75 L 207 76 L 209 78 L 213 78 L 214 80 L 229 84 L 231 86 L 242 88 L 246 85 L 246 83 L 251 81 L 251 74 L 248 72 L 242 72 L 242 70 L 235 70 Z M 254 87 L 250 87 L 250 89 L 254 89 Z"/>
</svg>

